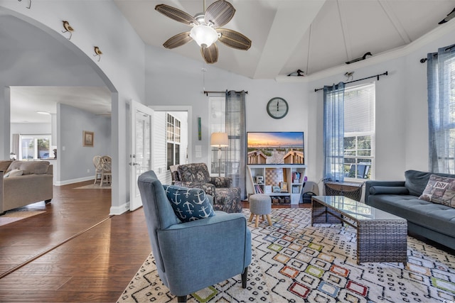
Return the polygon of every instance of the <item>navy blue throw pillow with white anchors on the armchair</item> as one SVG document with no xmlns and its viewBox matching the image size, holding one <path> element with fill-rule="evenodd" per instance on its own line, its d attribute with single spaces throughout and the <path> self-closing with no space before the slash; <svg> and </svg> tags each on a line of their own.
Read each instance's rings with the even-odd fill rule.
<svg viewBox="0 0 455 303">
<path fill-rule="evenodd" d="M 182 222 L 215 216 L 213 206 L 202 189 L 163 185 L 174 213 Z"/>
</svg>

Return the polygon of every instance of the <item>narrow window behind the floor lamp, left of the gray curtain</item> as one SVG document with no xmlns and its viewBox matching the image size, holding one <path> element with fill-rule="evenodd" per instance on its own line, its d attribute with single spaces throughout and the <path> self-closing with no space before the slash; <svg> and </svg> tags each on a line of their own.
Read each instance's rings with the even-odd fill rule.
<svg viewBox="0 0 455 303">
<path fill-rule="evenodd" d="M 210 130 L 209 133 L 225 133 L 226 130 L 226 98 L 225 96 L 213 96 L 209 98 L 210 104 Z M 218 148 L 210 148 L 210 173 L 217 174 L 221 169 L 221 174 L 225 171 L 226 154 L 221 153 L 221 164 L 218 161 Z M 221 166 L 221 167 L 219 167 Z"/>
</svg>

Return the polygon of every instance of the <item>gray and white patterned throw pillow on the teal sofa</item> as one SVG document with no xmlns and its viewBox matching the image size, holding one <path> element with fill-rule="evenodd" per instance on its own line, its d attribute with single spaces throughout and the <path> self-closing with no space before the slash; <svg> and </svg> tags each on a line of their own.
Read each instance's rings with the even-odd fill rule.
<svg viewBox="0 0 455 303">
<path fill-rule="evenodd" d="M 455 179 L 431 175 L 419 199 L 455 207 Z"/>
</svg>

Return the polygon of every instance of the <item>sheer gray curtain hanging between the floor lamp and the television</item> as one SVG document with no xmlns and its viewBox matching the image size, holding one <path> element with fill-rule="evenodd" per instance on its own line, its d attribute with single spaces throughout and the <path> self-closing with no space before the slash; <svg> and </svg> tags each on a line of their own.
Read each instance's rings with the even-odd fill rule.
<svg viewBox="0 0 455 303">
<path fill-rule="evenodd" d="M 241 199 L 246 197 L 246 121 L 245 91 L 226 91 L 226 132 L 229 146 L 226 149 L 226 177 L 232 177 L 232 185 L 242 190 Z"/>
</svg>

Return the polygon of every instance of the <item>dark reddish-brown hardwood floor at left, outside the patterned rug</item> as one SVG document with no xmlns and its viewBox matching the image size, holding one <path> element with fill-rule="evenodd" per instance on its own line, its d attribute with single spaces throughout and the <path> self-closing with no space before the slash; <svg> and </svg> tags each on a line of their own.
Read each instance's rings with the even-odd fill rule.
<svg viewBox="0 0 455 303">
<path fill-rule="evenodd" d="M 50 204 L 26 206 L 45 214 L 0 226 L 0 302 L 119 298 L 151 252 L 144 212 L 109 216 L 109 189 L 75 189 L 91 182 L 54 187 Z"/>
</svg>

